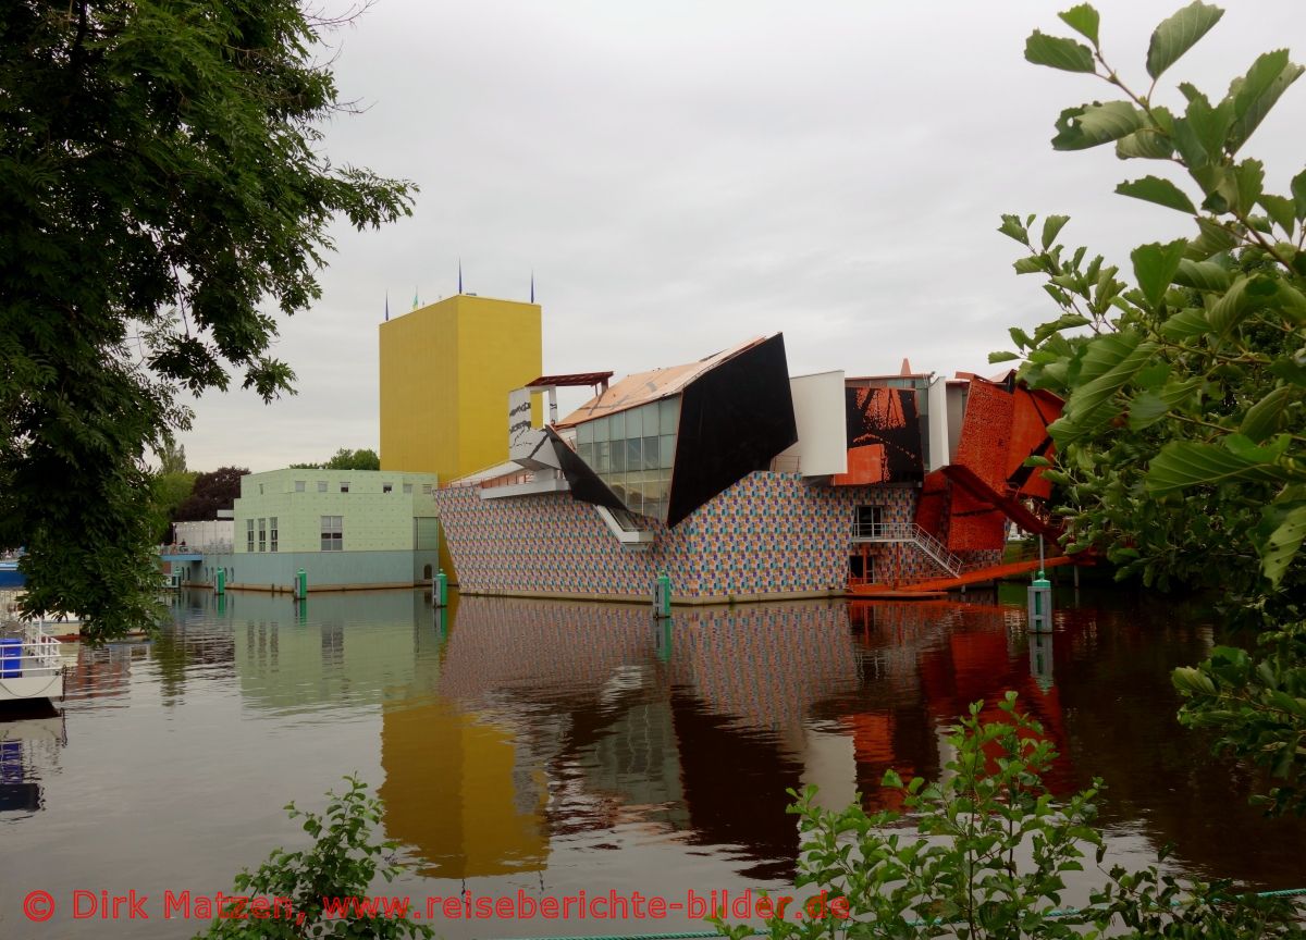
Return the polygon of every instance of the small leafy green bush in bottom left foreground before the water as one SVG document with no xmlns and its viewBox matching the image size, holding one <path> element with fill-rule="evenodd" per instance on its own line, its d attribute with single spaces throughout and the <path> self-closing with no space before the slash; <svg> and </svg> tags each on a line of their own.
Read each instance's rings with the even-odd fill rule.
<svg viewBox="0 0 1306 940">
<path fill-rule="evenodd" d="M 291 819 L 303 817 L 303 829 L 313 839 L 312 849 L 287 853 L 277 849 L 259 868 L 243 870 L 235 877 L 235 894 L 265 898 L 276 911 L 278 898 L 289 898 L 294 916 L 251 918 L 249 903 L 219 916 L 206 940 L 299 940 L 300 937 L 432 937 L 435 931 L 414 923 L 406 913 L 360 915 L 332 910 L 338 902 L 366 898 L 376 876 L 390 881 L 402 868 L 393 860 L 394 842 L 376 842 L 372 832 L 381 821 L 381 802 L 368 796 L 357 777 L 346 777 L 343 794 L 329 792 L 321 816 L 303 812 L 291 803 Z M 325 901 L 325 903 L 324 903 Z M 235 916 L 242 915 L 242 916 Z M 199 940 L 199 939 L 197 939 Z"/>
</svg>

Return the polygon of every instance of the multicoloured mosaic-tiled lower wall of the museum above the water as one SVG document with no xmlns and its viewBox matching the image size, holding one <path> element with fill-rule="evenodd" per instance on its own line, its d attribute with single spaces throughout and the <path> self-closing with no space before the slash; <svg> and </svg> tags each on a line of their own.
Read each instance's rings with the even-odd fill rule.
<svg viewBox="0 0 1306 940">
<path fill-rule="evenodd" d="M 857 507 L 883 522 L 916 516 L 912 486 L 825 487 L 797 473 L 757 471 L 699 507 L 653 547 L 623 551 L 594 507 L 569 494 L 482 500 L 477 484 L 439 491 L 441 525 L 465 593 L 646 598 L 661 572 L 677 598 L 841 593 Z M 883 580 L 943 572 L 912 544 L 876 550 Z"/>
</svg>

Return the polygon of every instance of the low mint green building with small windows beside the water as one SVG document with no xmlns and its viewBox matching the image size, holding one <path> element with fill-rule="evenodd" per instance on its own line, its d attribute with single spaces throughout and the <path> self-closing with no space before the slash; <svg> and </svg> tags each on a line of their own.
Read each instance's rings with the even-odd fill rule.
<svg viewBox="0 0 1306 940">
<path fill-rule="evenodd" d="M 291 590 L 410 588 L 439 565 L 436 475 L 397 470 L 272 470 L 240 478 L 230 552 L 193 563 L 191 584 Z"/>
</svg>

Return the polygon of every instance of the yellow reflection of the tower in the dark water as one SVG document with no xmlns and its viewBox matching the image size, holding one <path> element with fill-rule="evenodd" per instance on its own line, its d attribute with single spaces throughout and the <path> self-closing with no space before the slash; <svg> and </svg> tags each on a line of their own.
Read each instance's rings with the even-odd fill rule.
<svg viewBox="0 0 1306 940">
<path fill-rule="evenodd" d="M 547 790 L 520 742 L 444 701 L 387 702 L 383 721 L 385 833 L 426 862 L 423 875 L 545 867 Z"/>
</svg>

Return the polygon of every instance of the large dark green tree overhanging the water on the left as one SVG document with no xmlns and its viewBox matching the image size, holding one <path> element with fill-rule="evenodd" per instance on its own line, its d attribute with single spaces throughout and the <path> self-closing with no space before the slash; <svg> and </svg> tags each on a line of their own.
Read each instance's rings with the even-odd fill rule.
<svg viewBox="0 0 1306 940">
<path fill-rule="evenodd" d="M 320 151 L 342 110 L 295 0 L 12 0 L 0 17 L 0 546 L 25 607 L 150 627 L 144 458 L 179 394 L 291 392 L 273 311 L 320 295 L 343 215 L 414 188 Z"/>
</svg>

